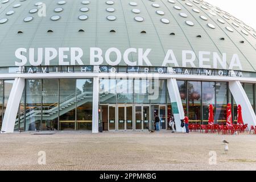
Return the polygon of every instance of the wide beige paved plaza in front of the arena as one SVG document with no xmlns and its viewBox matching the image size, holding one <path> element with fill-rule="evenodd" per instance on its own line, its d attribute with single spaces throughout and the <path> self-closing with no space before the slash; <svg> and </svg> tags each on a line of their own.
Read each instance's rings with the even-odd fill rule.
<svg viewBox="0 0 256 182">
<path fill-rule="evenodd" d="M 46 133 L 0 134 L 1 170 L 256 170 L 256 135 L 246 133 L 35 134 Z M 228 154 L 223 138 L 230 142 Z M 46 164 L 38 163 L 40 151 Z"/>
</svg>

